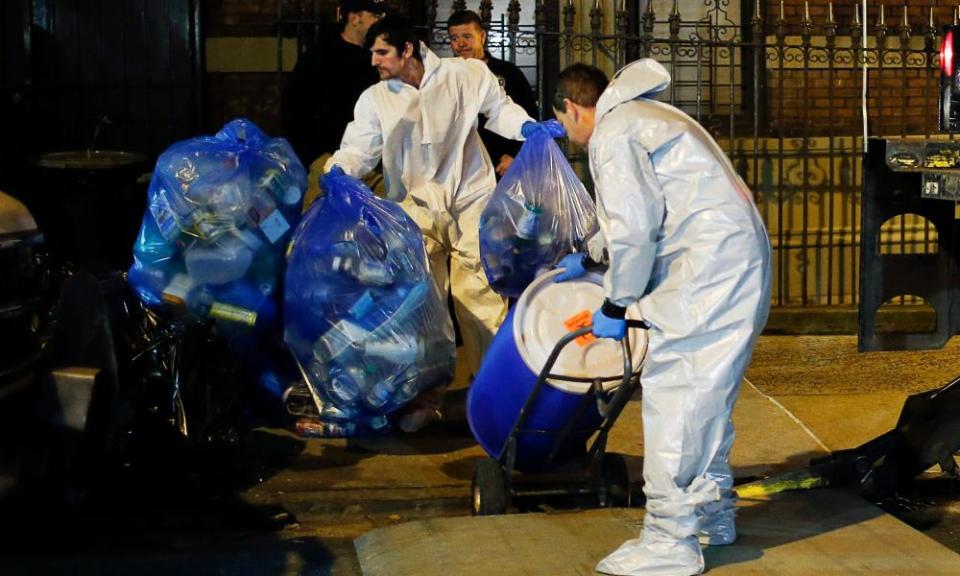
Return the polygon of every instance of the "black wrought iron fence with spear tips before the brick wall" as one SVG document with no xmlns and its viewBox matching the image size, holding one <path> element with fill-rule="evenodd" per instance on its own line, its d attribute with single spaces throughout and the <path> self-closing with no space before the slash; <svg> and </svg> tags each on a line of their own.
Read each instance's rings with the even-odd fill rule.
<svg viewBox="0 0 960 576">
<path fill-rule="evenodd" d="M 673 77 L 662 99 L 714 135 L 754 192 L 775 254 L 774 305 L 856 303 L 863 65 L 869 135 L 933 137 L 938 27 L 956 22 L 952 9 L 904 4 L 892 22 L 881 4 L 864 34 L 860 8 L 850 3 L 816 6 L 811 17 L 807 3 L 790 16 L 782 1 L 768 11 L 761 0 L 674 0 L 657 13 L 649 0 L 637 14 L 624 0 L 583 0 L 584 19 L 580 1 L 527 1 L 532 23 L 521 23 L 519 0 L 499 15 L 490 0 L 477 11 L 489 23 L 491 52 L 527 72 L 542 108 L 570 63 L 612 73 L 639 57 L 657 59 Z M 466 7 L 459 0 L 450 8 Z M 437 16 L 438 2 L 428 1 L 422 25 L 444 47 L 446 23 Z M 888 222 L 881 239 L 889 252 L 937 249 L 936 230 L 918 216 Z"/>
</svg>

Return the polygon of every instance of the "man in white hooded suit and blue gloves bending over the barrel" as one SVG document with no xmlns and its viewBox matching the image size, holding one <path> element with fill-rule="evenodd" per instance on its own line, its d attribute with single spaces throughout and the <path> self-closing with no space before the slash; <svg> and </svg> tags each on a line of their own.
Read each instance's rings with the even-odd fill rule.
<svg viewBox="0 0 960 576">
<path fill-rule="evenodd" d="M 699 124 L 650 100 L 669 83 L 654 60 L 627 65 L 609 85 L 575 64 L 553 102 L 570 138 L 588 147 L 603 235 L 589 254 L 561 261 L 560 280 L 606 260 L 594 334 L 623 338 L 635 302 L 650 324 L 647 514 L 640 537 L 597 565 L 605 574 L 700 574 L 701 543 L 735 540 L 730 415 L 770 309 L 770 244 L 750 190 Z"/>
</svg>

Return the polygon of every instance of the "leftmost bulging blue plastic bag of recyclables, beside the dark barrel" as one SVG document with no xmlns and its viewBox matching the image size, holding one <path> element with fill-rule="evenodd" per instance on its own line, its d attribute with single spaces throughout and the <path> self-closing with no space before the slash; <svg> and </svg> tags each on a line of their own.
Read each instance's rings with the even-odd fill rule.
<svg viewBox="0 0 960 576">
<path fill-rule="evenodd" d="M 157 160 L 130 285 L 148 305 L 216 319 L 234 345 L 279 334 L 278 287 L 307 172 L 249 120 L 178 142 Z"/>
</svg>

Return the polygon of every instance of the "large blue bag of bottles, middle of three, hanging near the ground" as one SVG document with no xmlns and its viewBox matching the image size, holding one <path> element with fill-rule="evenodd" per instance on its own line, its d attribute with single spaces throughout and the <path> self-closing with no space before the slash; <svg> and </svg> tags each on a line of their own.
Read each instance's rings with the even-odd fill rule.
<svg viewBox="0 0 960 576">
<path fill-rule="evenodd" d="M 413 220 L 339 168 L 321 186 L 287 258 L 284 340 L 326 433 L 349 436 L 450 381 L 453 325 Z"/>
</svg>

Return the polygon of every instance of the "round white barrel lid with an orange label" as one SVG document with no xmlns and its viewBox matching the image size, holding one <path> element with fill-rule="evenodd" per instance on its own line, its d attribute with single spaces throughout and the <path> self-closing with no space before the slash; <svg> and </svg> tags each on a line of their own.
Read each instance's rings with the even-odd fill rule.
<svg viewBox="0 0 960 576">
<path fill-rule="evenodd" d="M 589 273 L 567 282 L 554 282 L 562 270 L 551 270 L 537 277 L 517 300 L 513 316 L 513 338 L 520 357 L 534 374 L 547 363 L 557 342 L 571 330 L 565 322 L 579 313 L 593 314 L 603 305 L 603 276 Z M 627 318 L 641 319 L 636 305 L 627 308 Z M 647 352 L 647 331 L 630 330 L 633 372 L 639 372 Z M 550 371 L 558 376 L 577 378 L 622 377 L 623 352 L 620 342 L 597 338 L 581 344 L 566 345 Z M 604 382 L 603 389 L 620 385 L 620 378 Z M 551 386 L 572 394 L 585 394 L 588 382 L 569 382 L 550 378 Z"/>
</svg>

